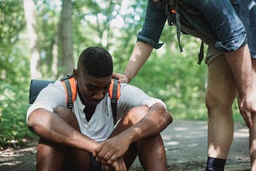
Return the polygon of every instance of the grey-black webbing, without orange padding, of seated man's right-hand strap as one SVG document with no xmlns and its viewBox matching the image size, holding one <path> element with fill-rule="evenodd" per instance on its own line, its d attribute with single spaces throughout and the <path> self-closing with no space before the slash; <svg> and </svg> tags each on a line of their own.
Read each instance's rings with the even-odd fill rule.
<svg viewBox="0 0 256 171">
<path fill-rule="evenodd" d="M 114 85 L 112 89 L 112 98 L 111 98 L 111 106 L 112 106 L 112 113 L 114 118 L 114 124 L 117 120 L 117 103 L 118 103 L 118 80 L 113 79 Z"/>
</svg>

